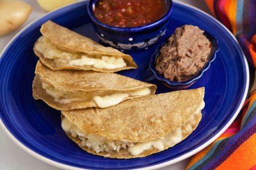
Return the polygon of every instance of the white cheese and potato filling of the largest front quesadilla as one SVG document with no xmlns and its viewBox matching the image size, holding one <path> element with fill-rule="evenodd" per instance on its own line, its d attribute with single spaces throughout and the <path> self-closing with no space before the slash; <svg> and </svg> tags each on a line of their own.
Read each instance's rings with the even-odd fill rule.
<svg viewBox="0 0 256 170">
<path fill-rule="evenodd" d="M 191 125 L 195 124 L 195 115 L 200 114 L 200 111 L 203 108 L 204 103 L 202 104 L 202 107 L 199 109 L 199 112 L 192 114 L 191 118 L 187 122 L 181 124 L 178 128 L 172 130 L 170 133 L 168 133 L 166 136 L 162 138 L 146 142 L 133 143 L 127 140 L 110 140 L 95 134 L 85 134 L 83 131 L 79 129 L 78 126 L 73 124 L 65 117 L 61 122 L 61 127 L 66 133 L 71 134 L 72 137 L 79 138 L 81 140 L 80 145 L 82 147 L 88 147 L 89 149 L 97 153 L 104 151 L 119 152 L 119 150 L 124 149 L 130 152 L 131 155 L 139 155 L 146 150 L 150 150 L 151 148 L 155 148 L 159 151 L 162 151 L 166 147 L 172 147 L 177 143 L 181 142 L 186 137 L 187 133 L 191 133 L 191 131 L 193 130 Z"/>
</svg>

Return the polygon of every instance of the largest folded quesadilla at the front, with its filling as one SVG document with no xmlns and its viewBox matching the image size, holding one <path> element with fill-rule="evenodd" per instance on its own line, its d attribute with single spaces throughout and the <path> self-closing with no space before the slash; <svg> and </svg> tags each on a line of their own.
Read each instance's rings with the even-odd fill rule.
<svg viewBox="0 0 256 170">
<path fill-rule="evenodd" d="M 204 87 L 148 95 L 109 108 L 62 111 L 61 126 L 91 154 L 140 158 L 187 138 L 199 124 L 203 108 Z"/>
</svg>

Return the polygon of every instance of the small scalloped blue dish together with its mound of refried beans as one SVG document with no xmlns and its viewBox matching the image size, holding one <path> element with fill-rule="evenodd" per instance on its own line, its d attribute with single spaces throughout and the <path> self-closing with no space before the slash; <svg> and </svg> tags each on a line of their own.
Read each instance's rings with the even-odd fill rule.
<svg viewBox="0 0 256 170">
<path fill-rule="evenodd" d="M 153 54 L 150 70 L 164 86 L 185 89 L 203 76 L 217 52 L 214 36 L 197 26 L 183 25 Z"/>
</svg>

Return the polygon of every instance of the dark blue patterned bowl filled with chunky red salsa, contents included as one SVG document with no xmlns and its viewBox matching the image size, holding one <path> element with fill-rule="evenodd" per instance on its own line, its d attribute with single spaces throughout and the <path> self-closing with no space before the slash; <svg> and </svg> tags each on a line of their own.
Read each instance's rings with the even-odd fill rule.
<svg viewBox="0 0 256 170">
<path fill-rule="evenodd" d="M 121 51 L 146 50 L 166 33 L 171 0 L 90 0 L 88 14 L 101 42 Z"/>
</svg>

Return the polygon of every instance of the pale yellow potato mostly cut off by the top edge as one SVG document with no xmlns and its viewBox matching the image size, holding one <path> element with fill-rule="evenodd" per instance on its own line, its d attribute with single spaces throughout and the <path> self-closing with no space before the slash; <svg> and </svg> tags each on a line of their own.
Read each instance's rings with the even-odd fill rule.
<svg viewBox="0 0 256 170">
<path fill-rule="evenodd" d="M 44 10 L 52 11 L 76 1 L 77 0 L 38 0 L 38 3 Z"/>
</svg>

